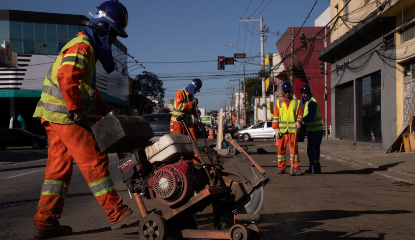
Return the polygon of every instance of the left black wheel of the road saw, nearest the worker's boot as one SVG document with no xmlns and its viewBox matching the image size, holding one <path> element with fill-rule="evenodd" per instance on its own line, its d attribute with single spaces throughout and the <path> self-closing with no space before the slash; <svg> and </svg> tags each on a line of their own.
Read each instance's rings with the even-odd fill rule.
<svg viewBox="0 0 415 240">
<path fill-rule="evenodd" d="M 138 225 L 138 235 L 141 240 L 166 240 L 166 220 L 157 214 L 147 215 Z"/>
</svg>

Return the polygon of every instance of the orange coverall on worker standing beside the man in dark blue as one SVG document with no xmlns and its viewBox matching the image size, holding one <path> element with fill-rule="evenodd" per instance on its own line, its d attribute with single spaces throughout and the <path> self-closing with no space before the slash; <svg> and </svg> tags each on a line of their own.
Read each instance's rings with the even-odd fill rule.
<svg viewBox="0 0 415 240">
<path fill-rule="evenodd" d="M 293 99 L 294 100 L 294 99 Z M 294 101 L 291 100 L 290 105 L 294 104 Z M 288 109 L 289 105 L 287 104 L 287 102 L 285 101 L 284 98 L 282 98 L 282 102 L 284 103 L 284 106 Z M 287 112 L 287 111 L 286 111 Z M 291 113 L 294 114 L 294 113 Z M 303 115 L 303 109 L 302 108 L 298 108 L 298 113 L 297 113 L 297 117 L 301 117 Z M 279 117 L 279 109 L 278 106 L 275 104 L 274 107 L 274 117 Z M 297 119 L 296 120 L 297 123 L 299 123 L 301 125 L 301 120 Z M 279 129 L 279 123 L 277 122 L 272 122 L 272 128 L 273 129 Z M 281 132 L 282 133 L 282 132 Z M 294 134 L 293 133 L 289 133 L 288 131 L 286 133 L 282 133 L 282 137 L 281 138 L 277 138 L 277 145 L 278 145 L 278 169 L 283 169 L 284 171 L 287 170 L 287 165 L 286 165 L 286 159 L 285 159 L 285 154 L 287 152 L 287 144 L 290 147 L 290 164 L 293 164 L 292 162 L 292 158 L 293 158 L 293 146 L 294 146 Z M 300 158 L 298 157 L 298 142 L 296 143 L 295 148 L 297 149 L 295 156 L 294 156 L 294 172 L 296 171 L 300 171 Z M 279 159 L 281 157 L 281 159 Z"/>
</svg>

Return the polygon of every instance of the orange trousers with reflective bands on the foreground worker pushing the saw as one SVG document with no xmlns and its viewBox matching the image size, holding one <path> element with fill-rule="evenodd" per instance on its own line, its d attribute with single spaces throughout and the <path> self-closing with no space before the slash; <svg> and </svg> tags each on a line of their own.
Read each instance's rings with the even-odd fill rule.
<svg viewBox="0 0 415 240">
<path fill-rule="evenodd" d="M 44 119 L 42 125 L 48 134 L 49 149 L 45 182 L 33 221 L 35 228 L 49 230 L 59 226 L 57 219 L 62 216 L 73 159 L 111 224 L 132 212 L 122 204 L 108 171 L 108 155 L 99 151 L 90 129 L 55 124 Z"/>
</svg>

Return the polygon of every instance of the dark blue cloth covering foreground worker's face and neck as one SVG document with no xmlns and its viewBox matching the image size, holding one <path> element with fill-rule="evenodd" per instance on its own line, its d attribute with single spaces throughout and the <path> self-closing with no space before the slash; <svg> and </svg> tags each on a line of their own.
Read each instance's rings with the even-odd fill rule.
<svg viewBox="0 0 415 240">
<path fill-rule="evenodd" d="M 99 21 L 102 21 L 102 19 L 91 19 L 90 20 L 90 22 L 96 23 L 96 24 Z M 99 60 L 99 62 L 101 62 L 102 66 L 104 67 L 104 70 L 108 74 L 113 72 L 115 68 L 115 64 L 114 64 L 114 59 L 112 57 L 111 45 L 108 42 L 108 34 L 105 34 L 104 36 L 100 37 L 94 32 L 94 29 L 92 29 L 89 26 L 85 26 L 82 32 L 88 35 L 94 42 L 95 56 Z"/>
</svg>

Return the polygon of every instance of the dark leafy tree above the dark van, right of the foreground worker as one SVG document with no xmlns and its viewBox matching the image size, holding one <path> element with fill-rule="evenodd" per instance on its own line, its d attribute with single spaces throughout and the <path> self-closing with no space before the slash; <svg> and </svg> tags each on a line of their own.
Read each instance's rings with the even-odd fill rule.
<svg viewBox="0 0 415 240">
<path fill-rule="evenodd" d="M 163 81 L 154 73 L 143 71 L 142 74 L 134 78 L 131 88 L 134 94 L 144 95 L 155 100 L 157 103 L 151 102 L 151 108 L 159 107 L 163 109 L 166 88 L 163 87 Z"/>
</svg>

